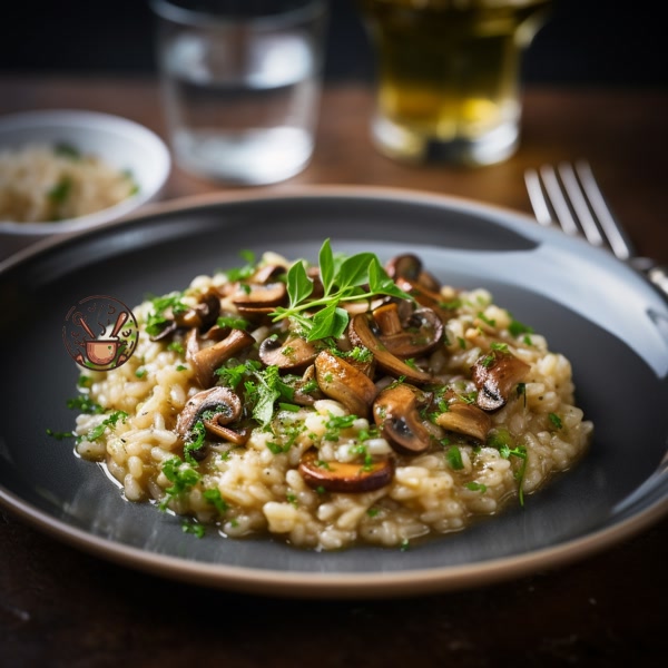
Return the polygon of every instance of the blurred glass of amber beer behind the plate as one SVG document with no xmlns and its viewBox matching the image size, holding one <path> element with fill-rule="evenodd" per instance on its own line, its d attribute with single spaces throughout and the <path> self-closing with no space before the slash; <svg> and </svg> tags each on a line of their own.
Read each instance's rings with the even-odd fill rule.
<svg viewBox="0 0 668 668">
<path fill-rule="evenodd" d="M 519 144 L 521 58 L 551 0 L 357 0 L 376 53 L 374 144 L 481 166 Z"/>
</svg>

